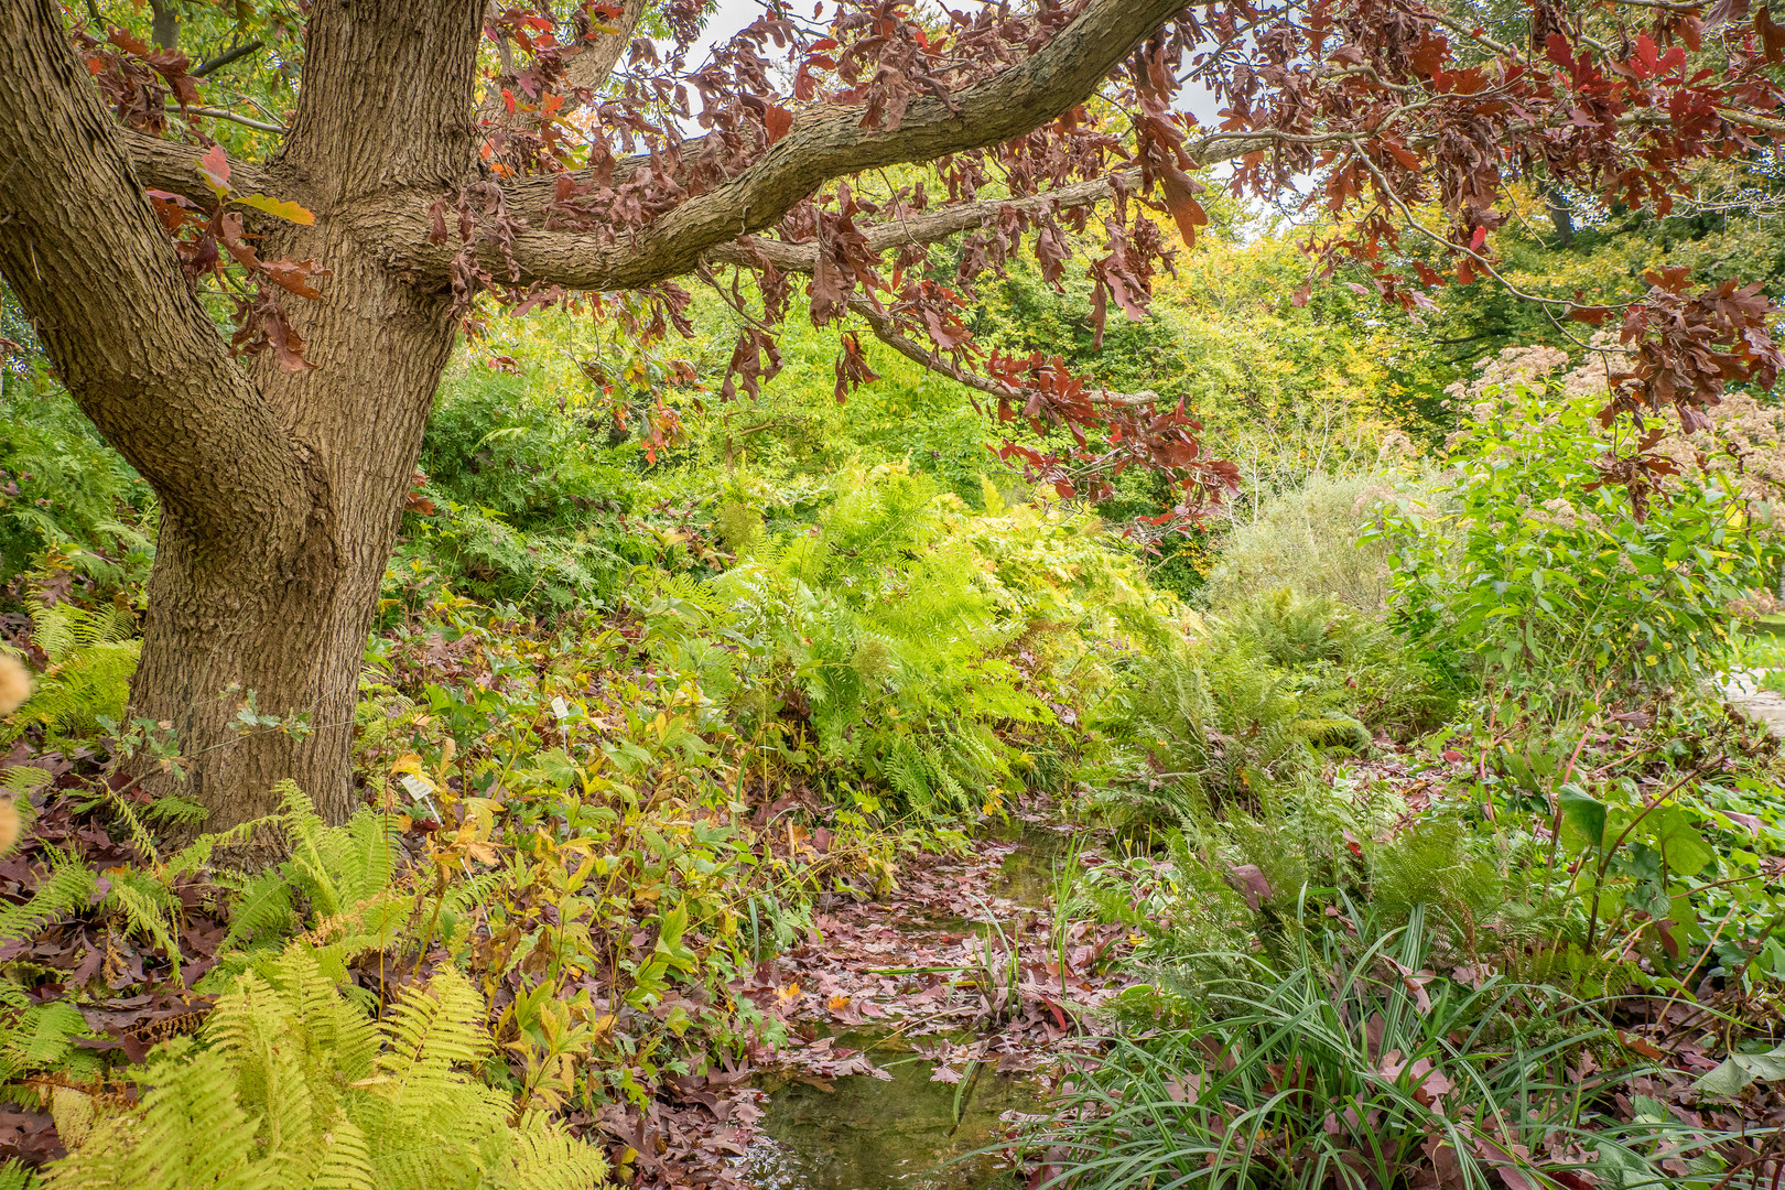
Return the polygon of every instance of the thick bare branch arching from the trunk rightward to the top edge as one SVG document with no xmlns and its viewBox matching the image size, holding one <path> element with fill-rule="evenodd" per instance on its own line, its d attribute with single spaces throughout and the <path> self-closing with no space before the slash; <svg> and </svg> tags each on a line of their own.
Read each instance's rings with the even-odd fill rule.
<svg viewBox="0 0 1785 1190">
<path fill-rule="evenodd" d="M 798 123 L 725 186 L 689 198 L 628 243 L 593 234 L 516 228 L 512 264 L 523 282 L 573 289 L 632 289 L 689 273 L 702 253 L 771 227 L 830 178 L 862 169 L 996 145 L 1023 136 L 1089 98 L 1133 46 L 1182 7 L 1182 0 L 1091 0 L 1021 66 L 967 87 L 951 103 L 919 98 L 896 130 L 862 128 L 864 107 L 837 107 Z M 361 230 L 382 241 L 391 264 L 446 277 L 453 244 L 428 243 L 432 196 L 418 194 L 398 218 Z M 507 271 L 496 244 L 480 244 L 486 268 Z"/>
</svg>

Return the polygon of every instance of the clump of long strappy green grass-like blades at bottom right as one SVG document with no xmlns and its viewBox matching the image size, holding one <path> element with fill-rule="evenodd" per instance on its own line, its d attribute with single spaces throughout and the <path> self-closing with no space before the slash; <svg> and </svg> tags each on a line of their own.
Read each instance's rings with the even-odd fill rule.
<svg viewBox="0 0 1785 1190">
<path fill-rule="evenodd" d="M 1228 956 L 1242 974 L 1210 999 L 1155 1001 L 1185 1024 L 1117 1038 L 1075 1079 L 1032 1136 L 1034 1185 L 1735 1185 L 1723 1136 L 1653 1101 L 1635 1122 L 1598 1104 L 1621 1072 L 1569 1067 L 1612 1040 L 1587 1006 L 1435 976 L 1423 917 L 1383 930 L 1351 906 L 1282 969 Z"/>
</svg>

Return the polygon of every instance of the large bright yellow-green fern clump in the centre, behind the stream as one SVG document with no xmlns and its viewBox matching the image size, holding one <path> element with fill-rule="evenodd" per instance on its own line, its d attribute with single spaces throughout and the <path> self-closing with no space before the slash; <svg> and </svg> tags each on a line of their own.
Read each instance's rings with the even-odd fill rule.
<svg viewBox="0 0 1785 1190">
<path fill-rule="evenodd" d="M 710 583 L 659 578 L 659 655 L 730 698 L 741 733 L 921 812 L 1057 781 L 1035 755 L 1069 735 L 1123 651 L 1110 639 L 1160 623 L 1092 521 L 996 489 L 975 514 L 898 466 L 843 476 L 803 532 L 769 532 L 737 496 L 719 523 L 739 560 Z"/>
</svg>

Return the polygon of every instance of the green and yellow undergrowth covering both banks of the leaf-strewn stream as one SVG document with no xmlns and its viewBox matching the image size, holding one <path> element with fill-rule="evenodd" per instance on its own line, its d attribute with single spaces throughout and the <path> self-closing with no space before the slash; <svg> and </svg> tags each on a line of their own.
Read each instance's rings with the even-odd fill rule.
<svg viewBox="0 0 1785 1190">
<path fill-rule="evenodd" d="M 1526 369 L 1444 450 L 1357 446 L 1369 405 L 1271 455 L 1262 410 L 1226 525 L 1157 548 L 1105 519 L 1142 480 L 1030 491 L 896 359 L 841 412 L 794 341 L 716 407 L 712 360 L 512 334 L 430 423 L 362 808 L 286 789 L 261 872 L 120 776 L 180 764 L 125 710 L 155 507 L 9 380 L 0 1178 L 671 1185 L 648 1122 L 784 1040 L 759 972 L 818 897 L 1037 801 L 1101 831 L 1059 912 L 1125 924 L 1137 987 L 1030 1185 L 1774 1174 L 1785 758 L 1708 685 L 1771 655 L 1744 473 L 1681 467 L 1639 519 Z M 1132 334 L 1112 375 L 1169 373 Z"/>
</svg>

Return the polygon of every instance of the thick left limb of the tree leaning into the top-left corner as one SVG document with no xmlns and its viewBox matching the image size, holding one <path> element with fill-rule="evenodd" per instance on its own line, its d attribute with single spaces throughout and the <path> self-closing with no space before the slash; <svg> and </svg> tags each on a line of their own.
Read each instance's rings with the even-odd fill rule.
<svg viewBox="0 0 1785 1190">
<path fill-rule="evenodd" d="M 52 0 L 0 0 L 0 273 L 80 409 L 196 541 L 296 539 L 305 460 L 187 289 Z"/>
</svg>

